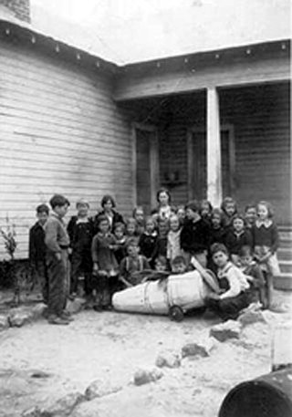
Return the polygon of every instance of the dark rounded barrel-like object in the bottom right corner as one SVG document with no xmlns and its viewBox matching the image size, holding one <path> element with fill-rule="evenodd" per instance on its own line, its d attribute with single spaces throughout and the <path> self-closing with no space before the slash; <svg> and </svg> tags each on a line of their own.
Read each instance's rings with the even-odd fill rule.
<svg viewBox="0 0 292 417">
<path fill-rule="evenodd" d="M 224 398 L 219 417 L 291 417 L 292 367 L 237 385 Z"/>
</svg>

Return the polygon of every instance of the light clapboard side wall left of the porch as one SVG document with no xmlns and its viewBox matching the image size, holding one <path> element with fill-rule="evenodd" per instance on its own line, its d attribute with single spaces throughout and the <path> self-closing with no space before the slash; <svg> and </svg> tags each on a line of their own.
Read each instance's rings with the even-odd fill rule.
<svg viewBox="0 0 292 417">
<path fill-rule="evenodd" d="M 130 213 L 130 125 L 111 93 L 98 70 L 0 42 L 0 226 L 16 225 L 18 257 L 27 255 L 36 205 L 53 193 L 68 196 L 68 218 L 80 197 L 95 214 L 105 193 Z"/>
</svg>

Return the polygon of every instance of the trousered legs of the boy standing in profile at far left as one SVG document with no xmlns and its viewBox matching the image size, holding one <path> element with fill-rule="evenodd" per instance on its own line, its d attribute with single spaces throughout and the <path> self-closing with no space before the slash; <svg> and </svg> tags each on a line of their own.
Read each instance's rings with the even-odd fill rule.
<svg viewBox="0 0 292 417">
<path fill-rule="evenodd" d="M 61 316 L 66 307 L 67 265 L 64 259 L 58 260 L 56 254 L 47 255 L 48 276 L 48 312 L 49 315 Z"/>
</svg>

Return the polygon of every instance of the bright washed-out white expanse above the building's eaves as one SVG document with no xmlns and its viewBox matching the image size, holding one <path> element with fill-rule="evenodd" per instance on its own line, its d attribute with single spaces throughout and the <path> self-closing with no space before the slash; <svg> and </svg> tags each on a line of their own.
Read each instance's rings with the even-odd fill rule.
<svg viewBox="0 0 292 417">
<path fill-rule="evenodd" d="M 45 4 L 42 8 L 32 0 L 32 22 L 43 33 L 120 66 L 273 42 L 291 35 L 289 0 L 113 3 L 99 0 L 99 7 L 91 6 L 86 22 L 74 25 L 67 15 L 56 16 L 56 8 L 54 12 L 49 4 L 45 9 Z"/>
</svg>

